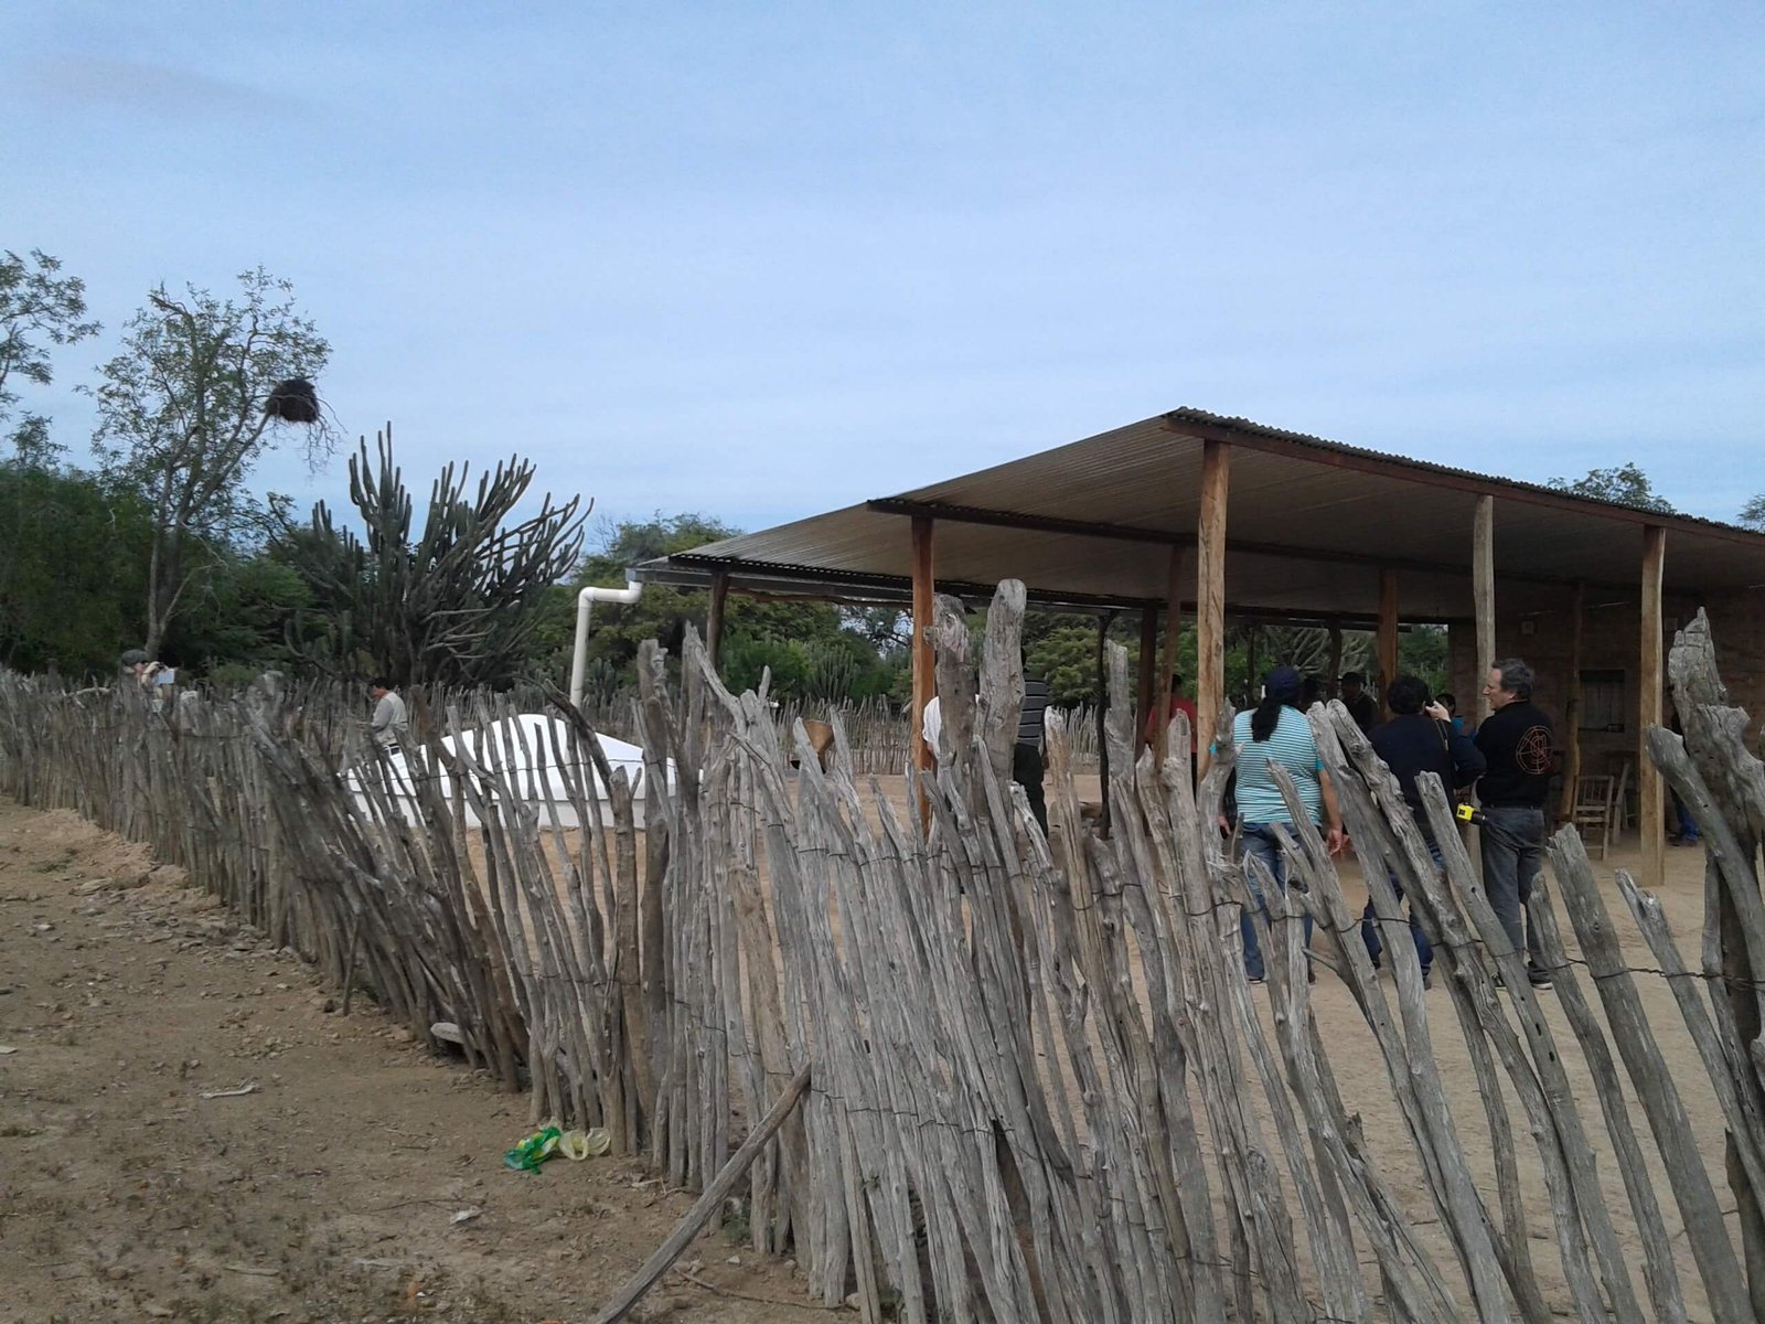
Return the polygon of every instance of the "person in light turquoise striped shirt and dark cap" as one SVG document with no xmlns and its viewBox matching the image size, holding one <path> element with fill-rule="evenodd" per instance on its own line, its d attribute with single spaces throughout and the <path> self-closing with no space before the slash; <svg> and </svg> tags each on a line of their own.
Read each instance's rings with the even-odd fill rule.
<svg viewBox="0 0 1765 1324">
<path fill-rule="evenodd" d="M 1304 681 L 1292 667 L 1274 667 L 1262 678 L 1262 703 L 1251 711 L 1232 718 L 1232 741 L 1237 745 L 1237 816 L 1239 833 L 1244 847 L 1244 861 L 1255 856 L 1274 886 L 1287 890 L 1287 858 L 1281 854 L 1280 839 L 1274 835 L 1276 824 L 1294 831 L 1294 816 L 1287 809 L 1281 787 L 1274 780 L 1274 768 L 1287 768 L 1299 791 L 1299 803 L 1311 823 L 1326 830 L 1326 842 L 1331 854 L 1340 854 L 1343 847 L 1341 814 L 1336 810 L 1336 789 L 1329 784 L 1329 773 L 1318 763 L 1318 747 L 1311 738 L 1311 726 L 1304 713 L 1296 708 Z M 1244 881 L 1250 893 L 1262 900 L 1262 881 L 1257 870 L 1246 869 Z M 1257 943 L 1257 927 L 1251 916 L 1241 918 L 1244 934 L 1244 973 L 1251 983 L 1262 983 L 1262 948 Z M 1304 918 L 1306 946 L 1311 944 L 1311 914 Z"/>
</svg>

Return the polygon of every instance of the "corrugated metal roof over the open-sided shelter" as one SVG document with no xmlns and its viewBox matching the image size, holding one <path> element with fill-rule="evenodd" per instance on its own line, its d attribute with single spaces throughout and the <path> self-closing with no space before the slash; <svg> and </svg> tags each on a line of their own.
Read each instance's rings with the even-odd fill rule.
<svg viewBox="0 0 1765 1324">
<path fill-rule="evenodd" d="M 1239 609 L 1366 616 L 1377 567 L 1393 565 L 1407 620 L 1465 618 L 1479 494 L 1495 496 L 1497 577 L 1634 586 L 1641 526 L 1661 524 L 1671 591 L 1765 584 L 1765 535 L 1202 410 L 727 538 L 650 563 L 642 577 L 660 579 L 665 567 L 667 579 L 702 581 L 722 568 L 738 586 L 764 577 L 898 593 L 911 574 L 902 515 L 918 512 L 937 517 L 941 584 L 1015 577 L 1045 600 L 1160 602 L 1168 547 L 1191 544 L 1200 521 L 1207 440 L 1232 445 L 1227 597 Z"/>
</svg>

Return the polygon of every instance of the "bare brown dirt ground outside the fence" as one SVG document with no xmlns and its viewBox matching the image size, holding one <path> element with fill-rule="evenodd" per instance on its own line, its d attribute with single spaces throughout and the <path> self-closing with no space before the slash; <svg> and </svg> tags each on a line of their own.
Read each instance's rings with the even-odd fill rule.
<svg viewBox="0 0 1765 1324">
<path fill-rule="evenodd" d="M 141 847 L 0 800 L 0 1320 L 591 1319 L 690 1197 L 510 1172 L 526 1098 L 408 1038 Z M 734 1230 L 637 1319 L 828 1319 Z"/>
</svg>

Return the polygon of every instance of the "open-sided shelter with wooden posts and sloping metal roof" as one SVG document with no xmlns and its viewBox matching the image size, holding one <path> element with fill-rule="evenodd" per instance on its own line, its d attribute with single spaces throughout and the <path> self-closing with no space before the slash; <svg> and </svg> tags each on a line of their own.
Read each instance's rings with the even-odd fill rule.
<svg viewBox="0 0 1765 1324">
<path fill-rule="evenodd" d="M 1491 660 L 1539 671 L 1571 786 L 1583 738 L 1590 752 L 1636 752 L 1663 720 L 1666 636 L 1700 606 L 1737 703 L 1758 713 L 1765 699 L 1765 535 L 1186 408 L 650 561 L 637 577 L 711 590 L 713 655 L 729 591 L 911 604 L 916 743 L 934 591 L 985 598 L 1008 577 L 1033 604 L 1138 611 L 1142 708 L 1160 618 L 1167 657 L 1181 618 L 1195 620 L 1202 713 L 1225 699 L 1228 616 L 1375 628 L 1386 678 L 1400 623 L 1446 625 L 1467 711 Z M 1643 872 L 1659 881 L 1663 787 L 1640 752 L 1636 768 Z"/>
</svg>

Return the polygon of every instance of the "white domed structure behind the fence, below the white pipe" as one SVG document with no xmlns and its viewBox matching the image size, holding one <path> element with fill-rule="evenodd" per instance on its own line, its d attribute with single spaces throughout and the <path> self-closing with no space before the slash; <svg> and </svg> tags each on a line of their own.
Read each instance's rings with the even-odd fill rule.
<svg viewBox="0 0 1765 1324">
<path fill-rule="evenodd" d="M 642 747 L 614 740 L 612 736 L 597 736 L 597 740 L 600 741 L 602 754 L 607 756 L 611 770 L 614 773 L 621 768 L 625 770 L 625 777 L 632 784 L 632 816 L 639 828 L 644 826 Z M 441 743 L 452 754 L 461 752 L 454 743 L 454 736 L 447 736 Z M 563 826 L 581 826 L 577 821 L 575 803 L 572 800 L 574 787 L 581 787 L 582 798 L 600 810 L 600 821 L 611 826 L 612 807 L 607 798 L 607 787 L 600 779 L 600 770 L 595 768 L 593 761 L 586 756 L 582 759 L 584 766 L 575 766 L 575 745 L 570 740 L 570 727 L 561 717 L 547 717 L 544 713 L 519 713 L 517 717 L 505 717 L 482 731 L 462 733 L 462 743 L 464 756 L 489 773 L 484 782 L 484 791 L 499 796 L 499 784 L 505 780 L 512 782 L 519 800 L 530 805 L 538 816 L 540 826 L 547 826 L 552 821 L 552 809 Z M 394 801 L 397 803 L 399 812 L 402 812 L 408 821 L 415 823 L 420 814 L 417 807 L 417 789 L 411 780 L 413 770 L 408 759 L 408 750 L 401 749 L 395 754 L 388 754 L 387 764 L 392 775 Z M 418 771 L 420 770 L 422 763 L 418 761 Z M 344 786 L 349 789 L 349 794 L 355 796 L 357 803 L 365 809 L 367 796 L 362 786 L 364 775 L 378 779 L 372 771 L 355 768 L 344 773 Z M 436 779 L 436 789 L 441 798 L 452 805 L 452 775 L 439 766 L 431 768 L 429 775 Z M 667 763 L 667 784 L 669 789 L 674 787 L 672 759 Z M 547 809 L 547 803 L 551 809 Z M 478 826 L 478 816 L 469 800 L 464 801 L 464 816 L 468 826 Z"/>
</svg>

